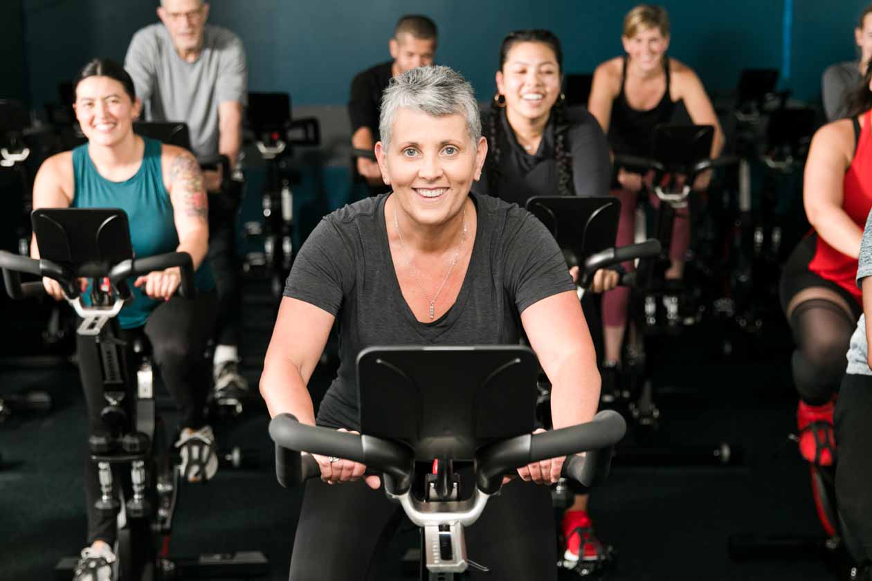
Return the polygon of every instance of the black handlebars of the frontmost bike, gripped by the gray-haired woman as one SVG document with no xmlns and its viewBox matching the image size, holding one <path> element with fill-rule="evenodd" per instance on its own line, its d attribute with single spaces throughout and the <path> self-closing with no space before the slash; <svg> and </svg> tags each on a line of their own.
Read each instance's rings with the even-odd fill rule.
<svg viewBox="0 0 872 581">
<path fill-rule="evenodd" d="M 479 489 L 493 494 L 500 490 L 503 475 L 519 466 L 559 456 L 569 456 L 563 464 L 565 476 L 591 486 L 608 473 L 612 447 L 626 429 L 620 414 L 605 410 L 592 422 L 488 444 L 475 458 Z M 296 450 L 364 463 L 368 470 L 391 476 L 395 494 L 402 494 L 411 486 L 412 450 L 392 440 L 310 426 L 290 414 L 276 415 L 269 422 L 269 436 L 276 443 L 276 479 L 284 487 L 299 485 L 321 474 L 314 458 Z M 586 457 L 573 456 L 580 452 L 587 452 Z"/>
</svg>

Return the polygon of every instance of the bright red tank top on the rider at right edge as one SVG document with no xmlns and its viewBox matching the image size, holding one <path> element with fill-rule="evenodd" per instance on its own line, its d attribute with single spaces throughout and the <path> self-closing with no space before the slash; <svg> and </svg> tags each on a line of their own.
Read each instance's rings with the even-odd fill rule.
<svg viewBox="0 0 872 581">
<path fill-rule="evenodd" d="M 854 220 L 860 229 L 866 226 L 869 210 L 872 209 L 872 111 L 866 111 L 854 159 L 845 172 L 844 199 L 841 207 Z M 832 280 L 835 284 L 853 294 L 862 304 L 862 293 L 857 287 L 857 259 L 842 254 L 817 237 L 814 258 L 808 263 L 808 270 L 821 278 Z"/>
</svg>

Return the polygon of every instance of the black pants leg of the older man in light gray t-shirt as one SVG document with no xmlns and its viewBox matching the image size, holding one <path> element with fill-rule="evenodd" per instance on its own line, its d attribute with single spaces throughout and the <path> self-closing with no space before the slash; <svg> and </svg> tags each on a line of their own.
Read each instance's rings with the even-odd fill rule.
<svg viewBox="0 0 872 581">
<path fill-rule="evenodd" d="M 242 186 L 232 182 L 230 192 L 209 193 L 208 260 L 215 276 L 220 304 L 215 343 L 239 346 L 242 341 L 242 272 L 236 253 L 236 220 Z"/>
</svg>

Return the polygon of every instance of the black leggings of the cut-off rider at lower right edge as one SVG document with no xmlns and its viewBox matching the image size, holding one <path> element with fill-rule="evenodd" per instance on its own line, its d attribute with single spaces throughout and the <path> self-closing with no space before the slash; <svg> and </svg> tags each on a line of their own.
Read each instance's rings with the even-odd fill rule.
<svg viewBox="0 0 872 581">
<path fill-rule="evenodd" d="M 857 558 L 872 560 L 872 375 L 845 375 L 835 402 L 835 497 Z"/>
</svg>

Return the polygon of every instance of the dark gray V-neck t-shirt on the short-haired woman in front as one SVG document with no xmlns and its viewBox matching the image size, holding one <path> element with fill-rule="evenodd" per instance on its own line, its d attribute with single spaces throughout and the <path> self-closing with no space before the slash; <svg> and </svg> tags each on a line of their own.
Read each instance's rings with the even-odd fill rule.
<svg viewBox="0 0 872 581">
<path fill-rule="evenodd" d="M 542 222 L 514 204 L 470 194 L 478 230 L 460 294 L 432 323 L 400 292 L 385 228 L 385 199 L 363 199 L 321 220 L 294 261 L 284 295 L 337 316 L 339 370 L 317 423 L 358 426 L 356 360 L 373 345 L 517 344 L 521 312 L 572 291 L 566 261 Z"/>
</svg>

